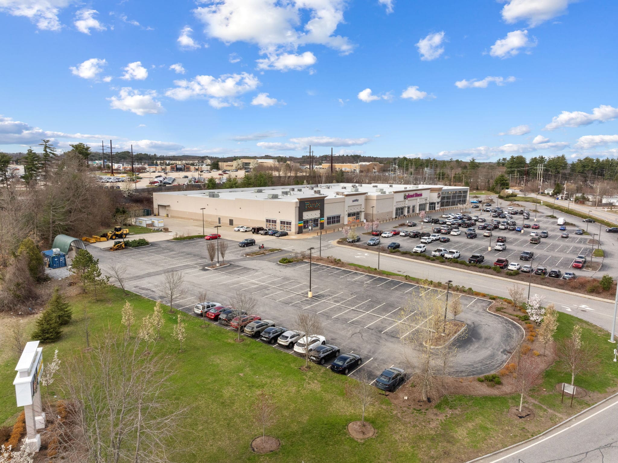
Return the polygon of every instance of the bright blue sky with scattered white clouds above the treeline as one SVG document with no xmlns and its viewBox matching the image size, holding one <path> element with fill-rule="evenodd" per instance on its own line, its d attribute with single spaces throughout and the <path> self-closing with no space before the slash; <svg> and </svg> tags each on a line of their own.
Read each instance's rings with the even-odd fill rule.
<svg viewBox="0 0 618 463">
<path fill-rule="evenodd" d="M 593 0 L 0 0 L 0 150 L 618 156 L 616 17 Z"/>
</svg>

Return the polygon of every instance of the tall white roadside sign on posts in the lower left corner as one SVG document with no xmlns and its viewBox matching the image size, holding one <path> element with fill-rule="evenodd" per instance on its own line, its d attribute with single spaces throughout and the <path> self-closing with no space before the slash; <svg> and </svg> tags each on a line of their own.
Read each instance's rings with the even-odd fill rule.
<svg viewBox="0 0 618 463">
<path fill-rule="evenodd" d="M 43 373 L 43 347 L 39 341 L 30 341 L 23 348 L 22 356 L 17 362 L 17 375 L 13 384 L 17 406 L 23 407 L 26 420 L 26 440 L 24 444 L 30 452 L 41 448 L 41 435 L 36 432 L 45 427 L 45 414 L 41 406 L 41 389 L 39 381 Z"/>
</svg>

